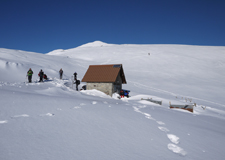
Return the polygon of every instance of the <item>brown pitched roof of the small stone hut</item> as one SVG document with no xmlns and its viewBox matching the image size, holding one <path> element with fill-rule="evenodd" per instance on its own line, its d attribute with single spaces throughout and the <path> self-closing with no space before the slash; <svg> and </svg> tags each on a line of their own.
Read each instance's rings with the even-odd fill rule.
<svg viewBox="0 0 225 160">
<path fill-rule="evenodd" d="M 82 82 L 115 82 L 120 74 L 122 83 L 126 84 L 122 64 L 90 65 Z"/>
</svg>

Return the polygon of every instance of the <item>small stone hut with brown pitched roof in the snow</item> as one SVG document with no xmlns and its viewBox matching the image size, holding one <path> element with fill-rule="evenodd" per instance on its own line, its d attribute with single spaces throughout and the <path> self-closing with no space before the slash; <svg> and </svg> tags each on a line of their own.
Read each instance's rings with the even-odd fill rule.
<svg viewBox="0 0 225 160">
<path fill-rule="evenodd" d="M 82 82 L 87 83 L 87 90 L 97 89 L 110 96 L 127 83 L 122 64 L 90 65 Z"/>
</svg>

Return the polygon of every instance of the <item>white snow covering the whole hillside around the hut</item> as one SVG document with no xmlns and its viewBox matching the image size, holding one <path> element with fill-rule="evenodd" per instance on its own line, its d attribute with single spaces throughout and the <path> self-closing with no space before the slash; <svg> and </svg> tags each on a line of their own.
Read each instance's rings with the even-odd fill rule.
<svg viewBox="0 0 225 160">
<path fill-rule="evenodd" d="M 123 64 L 131 97 L 75 91 L 72 74 L 81 80 L 94 64 Z M 0 159 L 222 160 L 224 73 L 225 47 L 95 41 L 48 54 L 1 48 Z M 169 102 L 197 106 L 191 113 Z"/>
</svg>

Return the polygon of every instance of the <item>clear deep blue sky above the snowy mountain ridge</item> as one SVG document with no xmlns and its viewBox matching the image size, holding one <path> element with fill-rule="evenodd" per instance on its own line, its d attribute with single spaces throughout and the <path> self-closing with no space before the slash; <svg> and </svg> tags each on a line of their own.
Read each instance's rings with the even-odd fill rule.
<svg viewBox="0 0 225 160">
<path fill-rule="evenodd" d="M 225 46 L 225 0 L 0 0 L 0 48 L 47 53 L 95 40 Z"/>
</svg>

